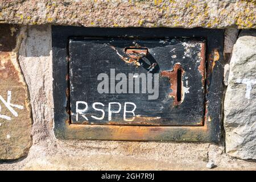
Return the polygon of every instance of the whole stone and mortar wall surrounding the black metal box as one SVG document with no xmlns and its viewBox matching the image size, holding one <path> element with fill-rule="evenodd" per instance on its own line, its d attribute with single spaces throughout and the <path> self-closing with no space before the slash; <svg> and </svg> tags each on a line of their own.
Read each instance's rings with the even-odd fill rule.
<svg viewBox="0 0 256 182">
<path fill-rule="evenodd" d="M 190 2 L 2 1 L 1 21 L 19 25 L 0 24 L 0 98 L 6 101 L 3 104 L 0 100 L 0 114 L 5 115 L 0 118 L 0 170 L 256 170 L 256 35 L 253 29 L 237 29 L 255 28 L 255 17 L 251 18 L 255 15 L 255 2 Z M 75 7 L 79 10 L 75 11 Z M 148 7 L 152 10 L 147 11 Z M 136 18 L 127 13 L 115 14 L 114 10 L 129 10 Z M 192 13 L 196 13 L 194 18 Z M 220 143 L 56 139 L 51 24 L 226 28 L 225 138 Z"/>
</svg>

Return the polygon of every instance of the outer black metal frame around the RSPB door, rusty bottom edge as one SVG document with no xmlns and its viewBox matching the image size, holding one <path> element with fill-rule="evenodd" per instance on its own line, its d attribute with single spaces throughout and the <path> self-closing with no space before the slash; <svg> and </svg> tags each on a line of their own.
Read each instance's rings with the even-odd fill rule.
<svg viewBox="0 0 256 182">
<path fill-rule="evenodd" d="M 204 126 L 77 125 L 69 115 L 68 42 L 71 37 L 200 38 L 207 42 Z M 224 30 L 207 28 L 89 28 L 52 26 L 54 131 L 60 139 L 219 142 Z"/>
</svg>

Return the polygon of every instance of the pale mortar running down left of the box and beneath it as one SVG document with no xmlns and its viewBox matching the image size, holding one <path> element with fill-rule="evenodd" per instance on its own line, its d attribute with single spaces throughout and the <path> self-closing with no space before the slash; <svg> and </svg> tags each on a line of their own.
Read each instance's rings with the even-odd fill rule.
<svg viewBox="0 0 256 182">
<path fill-rule="evenodd" d="M 59 140 L 53 133 L 51 27 L 28 27 L 20 67 L 30 91 L 33 145 L 26 158 L 0 162 L 0 170 L 256 170 L 210 143 Z"/>
</svg>

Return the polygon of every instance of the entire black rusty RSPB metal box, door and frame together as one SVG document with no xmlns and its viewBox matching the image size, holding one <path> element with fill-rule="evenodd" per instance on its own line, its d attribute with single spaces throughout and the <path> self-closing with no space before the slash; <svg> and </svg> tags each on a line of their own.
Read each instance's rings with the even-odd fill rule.
<svg viewBox="0 0 256 182">
<path fill-rule="evenodd" d="M 56 137 L 218 142 L 223 34 L 53 26 Z"/>
</svg>

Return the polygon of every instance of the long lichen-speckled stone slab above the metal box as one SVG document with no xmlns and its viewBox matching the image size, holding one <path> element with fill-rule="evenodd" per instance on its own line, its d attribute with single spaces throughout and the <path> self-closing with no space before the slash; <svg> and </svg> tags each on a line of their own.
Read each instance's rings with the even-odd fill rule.
<svg viewBox="0 0 256 182">
<path fill-rule="evenodd" d="M 87 27 L 255 28 L 254 0 L 4 0 L 0 21 Z"/>
</svg>

